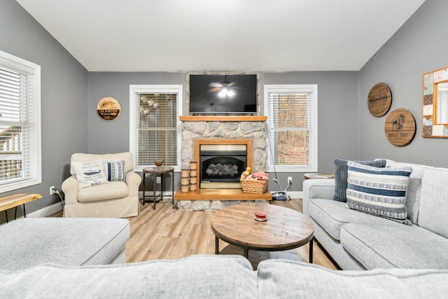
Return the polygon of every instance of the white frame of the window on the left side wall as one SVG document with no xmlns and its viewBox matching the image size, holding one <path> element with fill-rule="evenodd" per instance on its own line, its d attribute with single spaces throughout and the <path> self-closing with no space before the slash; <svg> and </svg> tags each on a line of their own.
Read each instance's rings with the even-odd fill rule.
<svg viewBox="0 0 448 299">
<path fill-rule="evenodd" d="M 27 166 L 27 176 L 20 178 L 8 179 L 6 182 L 0 181 L 0 193 L 18 190 L 29 186 L 34 186 L 42 183 L 42 148 L 41 148 L 41 66 L 29 62 L 15 55 L 0 50 L 0 65 L 6 68 L 13 69 L 15 71 L 23 71 L 32 75 L 33 81 L 30 84 L 33 88 L 31 95 L 31 109 L 34 114 L 31 116 L 32 123 L 31 132 L 28 134 L 31 137 L 29 141 L 29 162 Z M 25 156 L 22 155 L 22 158 Z M 25 161 L 26 162 L 26 161 Z"/>
</svg>

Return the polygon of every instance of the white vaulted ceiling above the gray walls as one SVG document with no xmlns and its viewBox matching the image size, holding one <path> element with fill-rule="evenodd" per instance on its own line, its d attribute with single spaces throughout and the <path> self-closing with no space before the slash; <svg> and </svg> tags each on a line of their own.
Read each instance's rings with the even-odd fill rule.
<svg viewBox="0 0 448 299">
<path fill-rule="evenodd" d="M 424 0 L 17 0 L 88 71 L 358 71 Z"/>
</svg>

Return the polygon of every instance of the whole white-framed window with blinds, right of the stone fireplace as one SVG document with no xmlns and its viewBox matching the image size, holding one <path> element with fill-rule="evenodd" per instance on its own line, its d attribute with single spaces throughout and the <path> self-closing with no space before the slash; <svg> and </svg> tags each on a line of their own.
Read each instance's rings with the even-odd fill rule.
<svg viewBox="0 0 448 299">
<path fill-rule="evenodd" d="M 317 172 L 317 85 L 265 85 L 267 170 Z"/>
</svg>

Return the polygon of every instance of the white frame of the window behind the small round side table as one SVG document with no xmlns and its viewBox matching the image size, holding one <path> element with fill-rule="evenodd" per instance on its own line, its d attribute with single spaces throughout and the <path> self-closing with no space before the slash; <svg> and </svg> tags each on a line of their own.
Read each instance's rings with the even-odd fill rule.
<svg viewBox="0 0 448 299">
<path fill-rule="evenodd" d="M 167 165 L 174 167 L 175 172 L 181 171 L 181 144 L 182 144 L 182 128 L 179 116 L 183 115 L 183 85 L 130 85 L 130 152 L 134 155 L 134 171 L 142 172 L 146 167 L 153 167 L 154 165 L 137 165 L 136 163 L 136 153 L 134 153 L 134 148 L 136 146 L 136 140 L 134 136 L 136 134 L 136 127 L 134 123 L 137 116 L 134 114 L 135 94 L 136 93 L 175 93 L 177 94 L 177 115 L 176 115 L 176 163 L 177 165 Z"/>
</svg>

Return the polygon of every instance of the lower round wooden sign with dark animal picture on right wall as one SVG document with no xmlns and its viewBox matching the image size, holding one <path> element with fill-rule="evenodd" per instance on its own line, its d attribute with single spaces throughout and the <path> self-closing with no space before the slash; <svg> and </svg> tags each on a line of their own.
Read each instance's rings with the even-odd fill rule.
<svg viewBox="0 0 448 299">
<path fill-rule="evenodd" d="M 388 114 L 384 125 L 386 137 L 394 146 L 409 144 L 415 135 L 415 119 L 406 109 L 395 109 Z"/>
</svg>

